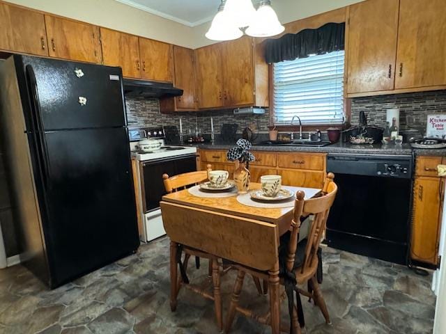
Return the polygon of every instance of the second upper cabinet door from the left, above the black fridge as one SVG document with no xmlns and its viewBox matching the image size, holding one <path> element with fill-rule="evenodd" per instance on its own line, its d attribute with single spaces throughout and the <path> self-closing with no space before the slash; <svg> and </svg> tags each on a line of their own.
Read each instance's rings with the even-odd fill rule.
<svg viewBox="0 0 446 334">
<path fill-rule="evenodd" d="M 99 27 L 45 15 L 49 56 L 101 63 Z"/>
</svg>

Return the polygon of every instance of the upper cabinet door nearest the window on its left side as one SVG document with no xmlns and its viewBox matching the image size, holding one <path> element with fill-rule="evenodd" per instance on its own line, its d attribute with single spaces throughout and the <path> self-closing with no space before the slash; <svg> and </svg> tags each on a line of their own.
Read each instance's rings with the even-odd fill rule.
<svg viewBox="0 0 446 334">
<path fill-rule="evenodd" d="M 222 45 L 223 97 L 226 106 L 254 104 L 252 38 L 247 36 Z"/>
</svg>

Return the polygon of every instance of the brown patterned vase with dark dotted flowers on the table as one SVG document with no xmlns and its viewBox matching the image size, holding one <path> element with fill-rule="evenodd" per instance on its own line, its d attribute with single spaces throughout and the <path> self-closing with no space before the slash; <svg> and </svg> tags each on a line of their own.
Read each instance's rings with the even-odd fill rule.
<svg viewBox="0 0 446 334">
<path fill-rule="evenodd" d="M 234 171 L 234 182 L 238 189 L 238 193 L 247 193 L 249 189 L 250 173 L 249 162 L 254 161 L 254 155 L 249 152 L 251 150 L 251 143 L 246 139 L 239 139 L 236 147 L 231 148 L 226 157 L 229 161 L 238 161 L 238 166 Z"/>
</svg>

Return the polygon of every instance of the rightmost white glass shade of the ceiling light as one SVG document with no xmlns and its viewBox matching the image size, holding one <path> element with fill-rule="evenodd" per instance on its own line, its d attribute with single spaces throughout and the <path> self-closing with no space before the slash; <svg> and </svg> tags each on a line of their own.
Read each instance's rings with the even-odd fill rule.
<svg viewBox="0 0 446 334">
<path fill-rule="evenodd" d="M 270 37 L 279 35 L 285 30 L 280 24 L 277 14 L 268 3 L 261 3 L 256 11 L 254 21 L 245 30 L 245 33 L 252 37 Z"/>
</svg>

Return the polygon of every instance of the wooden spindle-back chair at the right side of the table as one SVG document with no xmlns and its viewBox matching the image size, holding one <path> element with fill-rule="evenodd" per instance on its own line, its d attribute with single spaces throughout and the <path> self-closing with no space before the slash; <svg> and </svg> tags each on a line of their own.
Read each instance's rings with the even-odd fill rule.
<svg viewBox="0 0 446 334">
<path fill-rule="evenodd" d="M 328 177 L 325 180 L 325 184 L 323 186 L 323 191 L 321 193 L 321 197 L 312 198 L 309 200 L 304 200 L 305 193 L 302 191 L 298 191 L 296 194 L 295 207 L 293 211 L 293 220 L 291 221 L 291 232 L 289 234 L 289 243 L 284 248 L 286 255 L 284 258 L 279 258 L 279 264 L 282 262 L 282 266 L 280 266 L 281 275 L 278 277 L 279 269 L 277 268 L 275 271 L 259 271 L 257 269 L 253 269 L 252 267 L 247 267 L 243 264 L 237 264 L 235 267 L 238 269 L 238 275 L 236 279 L 236 283 L 233 288 L 233 296 L 231 299 L 231 303 L 229 306 L 229 312 L 226 319 L 225 331 L 229 333 L 233 319 L 236 315 L 236 312 L 240 312 L 246 317 L 251 317 L 261 322 L 262 324 L 267 324 L 272 327 L 272 333 L 278 334 L 280 331 L 289 332 L 290 328 L 286 328 L 285 326 L 280 326 L 280 315 L 279 303 L 281 299 L 286 298 L 285 294 L 282 294 L 279 300 L 272 300 L 277 298 L 275 296 L 279 296 L 279 294 L 270 294 L 270 311 L 263 316 L 255 315 L 251 310 L 247 310 L 245 308 L 241 308 L 238 305 L 240 292 L 243 287 L 243 280 L 245 278 L 245 273 L 251 273 L 259 279 L 263 279 L 265 282 L 268 280 L 270 282 L 270 287 L 274 287 L 272 282 L 281 285 L 286 285 L 286 280 L 284 279 L 283 271 L 288 273 L 293 273 L 295 276 L 295 282 L 293 283 L 293 289 L 298 293 L 297 298 L 300 299 L 299 294 L 308 296 L 310 299 L 314 300 L 314 303 L 321 310 L 323 317 L 325 317 L 325 321 L 327 324 L 330 324 L 330 316 L 328 315 L 327 306 L 325 305 L 325 301 L 321 294 L 321 289 L 318 286 L 318 280 L 316 279 L 316 272 L 318 269 L 318 249 L 321 244 L 321 239 L 323 236 L 323 232 L 325 231 L 328 214 L 330 212 L 330 207 L 334 202 L 334 198 L 337 193 L 337 185 L 333 182 L 334 175 L 332 173 L 328 173 Z M 305 247 L 299 248 L 298 245 L 298 236 L 300 229 L 300 218 L 308 215 L 314 215 L 314 220 L 312 223 L 312 227 L 310 228 L 309 236 L 305 240 Z M 282 245 L 284 246 L 284 245 Z M 282 253 L 282 252 L 281 252 Z M 282 253 L 283 254 L 283 253 Z M 280 257 L 280 253 L 279 253 Z M 303 257 L 302 264 L 296 267 L 295 259 L 296 257 Z M 283 268 L 282 268 L 283 267 Z M 297 283 L 297 284 L 295 284 Z M 307 283 L 308 291 L 299 289 L 297 285 L 302 285 Z M 294 304 L 292 304 L 291 309 L 291 333 L 301 333 L 300 327 L 304 326 L 302 310 L 298 310 Z M 291 306 L 291 305 L 290 305 Z M 299 319 L 298 314 L 301 314 L 301 318 Z"/>
</svg>

